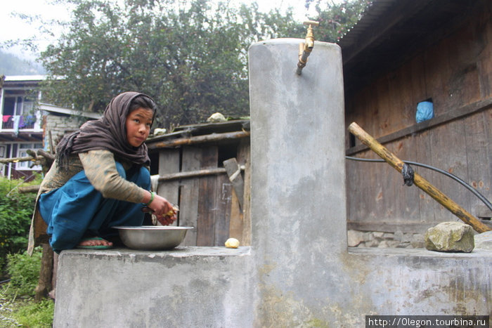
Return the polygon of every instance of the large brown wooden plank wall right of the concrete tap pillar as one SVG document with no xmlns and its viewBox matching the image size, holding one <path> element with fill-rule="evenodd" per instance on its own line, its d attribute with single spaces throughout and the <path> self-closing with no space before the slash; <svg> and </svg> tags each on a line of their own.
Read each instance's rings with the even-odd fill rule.
<svg viewBox="0 0 492 328">
<path fill-rule="evenodd" d="M 400 159 L 444 169 L 492 199 L 492 6 L 398 70 L 346 95 L 356 122 Z M 417 124 L 432 98 L 434 119 Z M 347 133 L 347 155 L 377 158 Z M 413 167 L 474 216 L 491 211 L 441 173 Z M 348 225 L 355 230 L 422 232 L 458 218 L 385 163 L 347 160 Z"/>
</svg>

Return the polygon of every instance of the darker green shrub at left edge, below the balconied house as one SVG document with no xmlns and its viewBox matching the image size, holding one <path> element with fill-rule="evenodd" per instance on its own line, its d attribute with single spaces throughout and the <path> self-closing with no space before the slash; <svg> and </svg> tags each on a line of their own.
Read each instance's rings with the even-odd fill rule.
<svg viewBox="0 0 492 328">
<path fill-rule="evenodd" d="M 5 265 L 7 254 L 15 254 L 27 248 L 34 201 L 36 194 L 20 193 L 20 185 L 35 185 L 40 178 L 30 183 L 0 177 L 0 268 Z"/>
</svg>

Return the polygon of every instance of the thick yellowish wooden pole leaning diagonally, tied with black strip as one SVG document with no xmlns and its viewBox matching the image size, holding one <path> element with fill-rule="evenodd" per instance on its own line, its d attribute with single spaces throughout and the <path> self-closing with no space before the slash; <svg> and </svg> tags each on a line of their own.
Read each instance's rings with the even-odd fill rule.
<svg viewBox="0 0 492 328">
<path fill-rule="evenodd" d="M 349 131 L 354 134 L 361 142 L 370 147 L 373 152 L 379 155 L 382 159 L 384 159 L 389 165 L 393 166 L 397 171 L 401 173 L 403 169 L 403 161 L 401 161 L 398 157 L 396 157 L 392 152 L 387 150 L 386 147 L 381 145 L 375 138 L 370 136 L 367 132 L 365 132 L 361 126 L 358 126 L 355 122 L 349 125 Z M 463 209 L 460 205 L 453 202 L 448 196 L 444 195 L 439 189 L 434 187 L 429 181 L 422 178 L 418 173 L 415 173 L 413 177 L 413 183 L 415 185 L 427 192 L 427 194 L 434 198 L 439 204 L 446 207 L 451 213 L 455 216 L 458 216 L 463 222 L 471 225 L 474 230 L 477 232 L 486 232 L 490 231 L 491 228 L 488 228 L 487 225 L 481 223 L 479 219 L 472 216 L 472 214 L 468 213 L 465 209 Z"/>
</svg>

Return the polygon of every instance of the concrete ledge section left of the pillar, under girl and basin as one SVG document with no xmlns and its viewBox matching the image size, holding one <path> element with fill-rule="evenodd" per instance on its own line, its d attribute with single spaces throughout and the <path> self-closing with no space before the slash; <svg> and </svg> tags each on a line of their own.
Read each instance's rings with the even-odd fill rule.
<svg viewBox="0 0 492 328">
<path fill-rule="evenodd" d="M 250 247 L 63 251 L 53 327 L 251 327 L 250 258 Z"/>
</svg>

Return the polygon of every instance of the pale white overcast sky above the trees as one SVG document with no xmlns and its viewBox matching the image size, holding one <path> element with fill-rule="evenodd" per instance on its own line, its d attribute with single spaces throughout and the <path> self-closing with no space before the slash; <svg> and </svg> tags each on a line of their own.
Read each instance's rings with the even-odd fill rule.
<svg viewBox="0 0 492 328">
<path fill-rule="evenodd" d="M 43 20 L 70 20 L 70 13 L 66 6 L 53 5 L 51 0 L 3 0 L 1 1 L 0 22 L 0 43 L 12 39 L 27 39 L 37 37 L 41 50 L 48 44 L 56 41 L 47 39 L 44 34 L 39 33 L 39 22 L 28 23 L 26 20 L 15 17 L 13 13 L 25 15 L 39 15 Z M 250 3 L 249 0 L 231 0 L 231 3 Z M 294 8 L 295 19 L 301 22 L 305 20 L 304 0 L 257 0 L 260 11 L 268 12 L 272 8 L 280 8 L 282 12 L 288 7 Z M 43 39 L 41 39 L 43 38 Z M 1 46 L 0 46 L 1 48 Z M 23 51 L 20 49 L 5 49 L 2 50 L 13 52 L 20 55 Z M 29 57 L 33 58 L 34 55 Z"/>
</svg>

